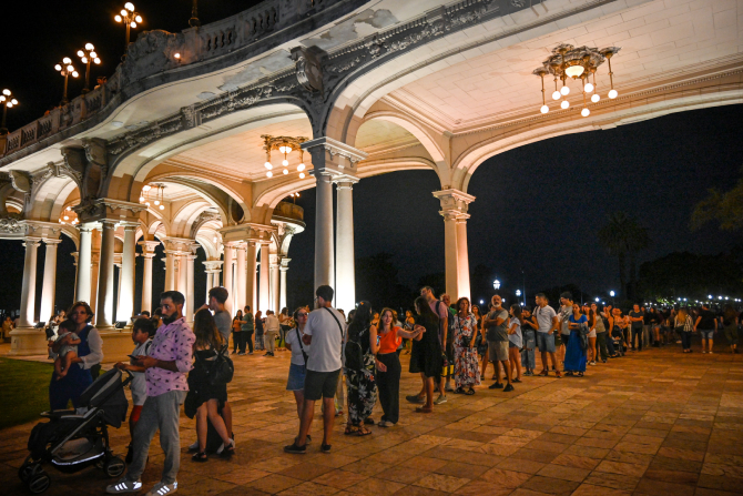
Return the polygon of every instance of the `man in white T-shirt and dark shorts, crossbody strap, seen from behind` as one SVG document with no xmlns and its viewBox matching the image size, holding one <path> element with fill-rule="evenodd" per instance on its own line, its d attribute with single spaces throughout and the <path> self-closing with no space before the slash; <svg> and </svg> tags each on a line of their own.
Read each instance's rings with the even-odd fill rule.
<svg viewBox="0 0 743 496">
<path fill-rule="evenodd" d="M 343 367 L 342 348 L 346 325 L 343 315 L 332 306 L 333 287 L 323 285 L 315 291 L 317 310 L 309 313 L 302 342 L 312 345 L 307 356 L 305 375 L 305 401 L 299 424 L 299 435 L 294 444 L 284 446 L 286 453 L 304 454 L 307 434 L 315 415 L 315 402 L 323 398 L 323 444 L 320 452 L 330 452 L 330 433 L 335 421 L 333 398 Z"/>
</svg>

